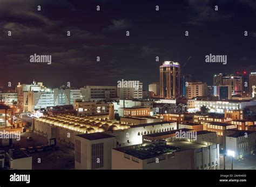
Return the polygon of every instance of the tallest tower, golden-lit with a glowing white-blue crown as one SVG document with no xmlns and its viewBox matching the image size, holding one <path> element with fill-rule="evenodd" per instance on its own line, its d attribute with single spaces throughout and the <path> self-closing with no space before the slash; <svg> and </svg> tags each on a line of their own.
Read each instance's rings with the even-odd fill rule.
<svg viewBox="0 0 256 187">
<path fill-rule="evenodd" d="M 160 96 L 165 98 L 180 96 L 180 65 L 178 62 L 164 61 L 160 66 Z"/>
</svg>

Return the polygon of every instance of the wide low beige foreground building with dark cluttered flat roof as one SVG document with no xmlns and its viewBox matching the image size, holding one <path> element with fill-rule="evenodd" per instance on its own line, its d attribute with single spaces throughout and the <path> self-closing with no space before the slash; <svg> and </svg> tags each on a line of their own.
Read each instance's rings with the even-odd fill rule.
<svg viewBox="0 0 256 187">
<path fill-rule="evenodd" d="M 219 145 L 150 142 L 112 149 L 112 169 L 219 169 Z"/>
</svg>

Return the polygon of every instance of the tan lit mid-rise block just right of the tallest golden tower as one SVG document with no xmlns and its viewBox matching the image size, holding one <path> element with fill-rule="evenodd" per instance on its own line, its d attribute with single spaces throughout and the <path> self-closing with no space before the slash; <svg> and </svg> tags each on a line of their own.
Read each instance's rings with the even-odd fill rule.
<svg viewBox="0 0 256 187">
<path fill-rule="evenodd" d="M 187 86 L 186 97 L 187 99 L 192 99 L 198 96 L 207 96 L 208 87 L 206 83 L 203 82 L 190 82 Z"/>
</svg>

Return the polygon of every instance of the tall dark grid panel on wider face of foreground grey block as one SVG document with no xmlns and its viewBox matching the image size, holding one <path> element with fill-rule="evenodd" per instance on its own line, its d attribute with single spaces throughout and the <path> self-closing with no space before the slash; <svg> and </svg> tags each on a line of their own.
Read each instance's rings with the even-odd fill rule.
<svg viewBox="0 0 256 187">
<path fill-rule="evenodd" d="M 103 143 L 95 143 L 91 145 L 92 153 L 92 169 L 104 167 L 104 145 Z"/>
</svg>

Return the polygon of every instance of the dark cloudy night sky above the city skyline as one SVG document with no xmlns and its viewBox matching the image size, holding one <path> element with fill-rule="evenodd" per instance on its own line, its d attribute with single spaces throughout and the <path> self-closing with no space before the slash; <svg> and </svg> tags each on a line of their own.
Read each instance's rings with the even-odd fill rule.
<svg viewBox="0 0 256 187">
<path fill-rule="evenodd" d="M 33 79 L 52 88 L 117 85 L 123 78 L 142 81 L 147 90 L 159 82 L 164 60 L 180 62 L 181 73 L 212 85 L 216 73 L 256 71 L 255 52 L 256 1 L 0 1 L 4 87 Z M 35 53 L 52 55 L 52 63 L 30 63 Z M 206 63 L 210 53 L 227 55 L 227 64 Z"/>
</svg>

